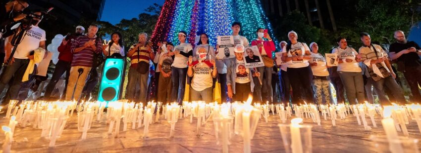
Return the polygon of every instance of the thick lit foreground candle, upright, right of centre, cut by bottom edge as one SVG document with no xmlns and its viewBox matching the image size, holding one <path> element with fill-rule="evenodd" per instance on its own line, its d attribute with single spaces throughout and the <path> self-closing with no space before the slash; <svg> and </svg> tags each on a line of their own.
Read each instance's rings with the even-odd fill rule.
<svg viewBox="0 0 421 153">
<path fill-rule="evenodd" d="M 294 118 L 291 120 L 290 130 L 292 153 L 303 153 L 300 133 L 301 122 L 303 122 L 303 118 Z"/>
</svg>

